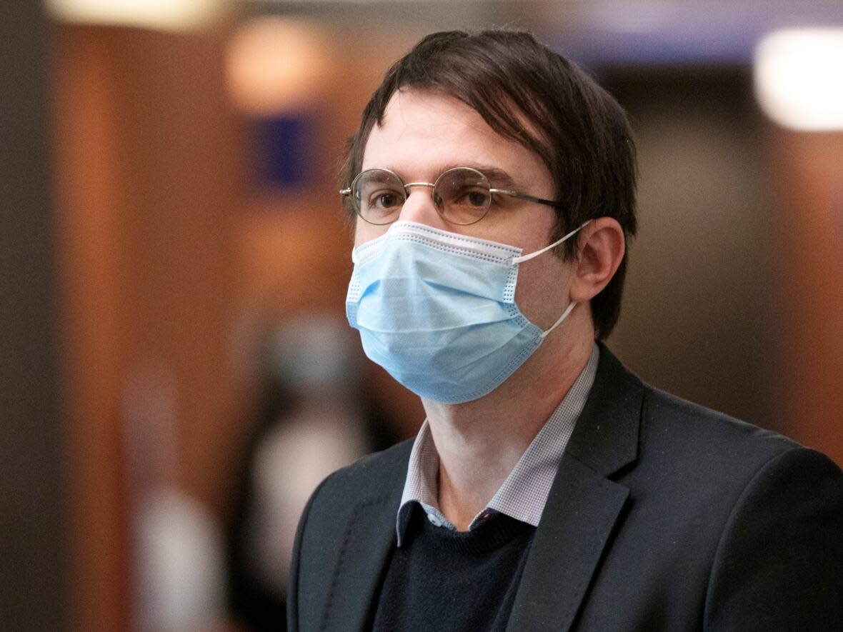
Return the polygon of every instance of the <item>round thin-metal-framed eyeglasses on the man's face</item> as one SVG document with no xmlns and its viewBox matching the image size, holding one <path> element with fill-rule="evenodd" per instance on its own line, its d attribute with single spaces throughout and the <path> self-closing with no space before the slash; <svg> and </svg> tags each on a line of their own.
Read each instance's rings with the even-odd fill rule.
<svg viewBox="0 0 843 632">
<path fill-rule="evenodd" d="M 480 222 L 491 206 L 491 196 L 508 195 L 521 200 L 560 207 L 561 202 L 544 200 L 518 191 L 493 189 L 489 179 L 477 169 L 454 167 L 444 171 L 436 182 L 404 183 L 389 169 L 366 169 L 357 174 L 352 185 L 340 191 L 351 200 L 354 212 L 363 221 L 383 225 L 398 219 L 411 186 L 430 187 L 433 205 L 446 222 L 467 226 Z"/>
</svg>

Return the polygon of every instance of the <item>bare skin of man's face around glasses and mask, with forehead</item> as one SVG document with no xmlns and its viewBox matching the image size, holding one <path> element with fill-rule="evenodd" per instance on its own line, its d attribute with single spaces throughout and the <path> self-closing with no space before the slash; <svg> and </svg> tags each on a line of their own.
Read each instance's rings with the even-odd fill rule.
<svg viewBox="0 0 843 632">
<path fill-rule="evenodd" d="M 490 169 L 502 171 L 507 177 L 490 178 L 492 187 L 555 197 L 550 172 L 541 158 L 500 137 L 468 105 L 432 92 L 396 92 L 386 107 L 384 125 L 375 125 L 368 137 L 362 169 L 389 169 L 405 182 L 434 182 L 452 167 L 473 167 L 486 174 Z M 524 254 L 550 244 L 556 222 L 556 211 L 550 206 L 495 195 L 486 217 L 459 226 L 439 215 L 429 187 L 411 187 L 409 194 L 400 220 L 518 246 Z M 354 244 L 379 237 L 387 228 L 357 217 Z M 542 329 L 555 323 L 568 303 L 569 269 L 550 252 L 520 265 L 516 303 Z"/>
</svg>

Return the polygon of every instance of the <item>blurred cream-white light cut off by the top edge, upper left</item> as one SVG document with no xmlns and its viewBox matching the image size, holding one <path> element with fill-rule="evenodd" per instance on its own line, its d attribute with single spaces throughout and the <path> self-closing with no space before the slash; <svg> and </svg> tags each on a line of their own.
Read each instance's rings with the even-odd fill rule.
<svg viewBox="0 0 843 632">
<path fill-rule="evenodd" d="M 46 0 L 45 4 L 62 22 L 184 30 L 219 19 L 228 0 Z"/>
</svg>

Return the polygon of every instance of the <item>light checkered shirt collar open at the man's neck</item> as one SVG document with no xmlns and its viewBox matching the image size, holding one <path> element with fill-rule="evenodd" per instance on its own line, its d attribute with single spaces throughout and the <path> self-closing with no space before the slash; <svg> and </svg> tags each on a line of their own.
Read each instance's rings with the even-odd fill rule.
<svg viewBox="0 0 843 632">
<path fill-rule="evenodd" d="M 556 478 L 556 469 L 562 453 L 565 452 L 568 439 L 574 430 L 577 417 L 583 411 L 588 392 L 594 383 L 597 372 L 599 348 L 595 344 L 591 357 L 583 372 L 579 374 L 573 386 L 562 399 L 561 404 L 550 415 L 545 426 L 515 463 L 515 467 L 503 481 L 486 508 L 478 513 L 469 525 L 469 530 L 493 513 L 504 513 L 516 520 L 527 522 L 537 527 L 542 511 L 545 511 L 550 485 Z M 430 434 L 427 420 L 421 425 L 410 453 L 404 494 L 398 509 L 396 530 L 398 546 L 410 521 L 412 504 L 417 502 L 427 513 L 427 519 L 436 526 L 455 530 L 448 518 L 442 515 L 437 505 L 437 478 L 439 455 Z"/>
</svg>

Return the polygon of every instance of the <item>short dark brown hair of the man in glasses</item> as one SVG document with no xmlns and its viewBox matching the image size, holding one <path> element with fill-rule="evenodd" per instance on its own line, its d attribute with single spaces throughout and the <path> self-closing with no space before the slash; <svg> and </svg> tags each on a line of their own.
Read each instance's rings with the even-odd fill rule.
<svg viewBox="0 0 843 632">
<path fill-rule="evenodd" d="M 427 35 L 386 72 L 348 144 L 342 175 L 350 185 L 360 171 L 373 126 L 383 124 L 389 99 L 417 88 L 459 99 L 502 137 L 537 153 L 556 187 L 554 236 L 588 219 L 614 217 L 626 238 L 636 232 L 636 160 L 626 114 L 583 70 L 523 31 Z M 561 256 L 577 253 L 574 239 Z M 604 339 L 617 322 L 626 254 L 615 276 L 591 299 L 595 333 Z"/>
</svg>

